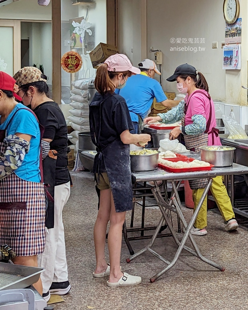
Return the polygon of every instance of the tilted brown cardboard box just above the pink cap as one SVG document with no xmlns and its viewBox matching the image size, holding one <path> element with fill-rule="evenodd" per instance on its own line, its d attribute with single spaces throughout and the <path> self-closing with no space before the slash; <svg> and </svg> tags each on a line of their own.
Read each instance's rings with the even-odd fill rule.
<svg viewBox="0 0 248 310">
<path fill-rule="evenodd" d="M 99 64 L 104 63 L 104 61 L 111 55 L 119 53 L 118 48 L 114 45 L 99 43 L 90 52 L 90 60 L 94 69 L 97 69 Z"/>
</svg>

